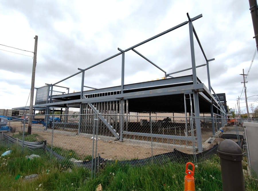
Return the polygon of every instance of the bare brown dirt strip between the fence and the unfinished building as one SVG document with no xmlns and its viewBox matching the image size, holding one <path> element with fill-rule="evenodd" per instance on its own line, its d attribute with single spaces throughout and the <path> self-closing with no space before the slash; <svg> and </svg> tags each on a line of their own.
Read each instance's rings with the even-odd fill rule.
<svg viewBox="0 0 258 191">
<path fill-rule="evenodd" d="M 23 124 L 21 125 L 21 122 L 18 121 L 11 122 L 10 125 L 16 128 L 16 133 L 21 132 L 21 129 L 23 129 Z M 28 124 L 26 124 L 25 132 L 27 131 L 27 126 Z M 42 125 L 37 125 L 36 127 L 32 127 L 32 133 L 37 133 L 40 136 L 38 138 L 39 141 L 46 140 L 47 144 L 51 145 L 52 131 L 50 129 L 44 131 Z M 53 136 L 53 146 L 72 149 L 81 157 L 92 154 L 92 142 L 91 138 L 82 135 L 54 132 Z M 153 155 L 171 151 L 171 149 L 153 147 Z M 97 153 L 99 153 L 102 158 L 112 160 L 142 159 L 151 156 L 151 146 L 145 144 L 136 145 L 120 141 L 104 141 L 100 139 L 97 141 Z"/>
</svg>

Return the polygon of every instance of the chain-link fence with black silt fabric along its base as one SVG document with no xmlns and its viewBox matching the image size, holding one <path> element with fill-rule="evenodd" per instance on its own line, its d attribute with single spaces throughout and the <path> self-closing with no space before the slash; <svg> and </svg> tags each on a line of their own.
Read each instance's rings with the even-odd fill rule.
<svg viewBox="0 0 258 191">
<path fill-rule="evenodd" d="M 200 161 L 217 151 L 223 139 L 243 147 L 242 123 L 256 119 L 74 114 L 1 118 L 1 136 L 9 148 L 28 158 L 44 157 L 92 170 L 105 162 L 142 165 L 169 160 Z"/>
</svg>

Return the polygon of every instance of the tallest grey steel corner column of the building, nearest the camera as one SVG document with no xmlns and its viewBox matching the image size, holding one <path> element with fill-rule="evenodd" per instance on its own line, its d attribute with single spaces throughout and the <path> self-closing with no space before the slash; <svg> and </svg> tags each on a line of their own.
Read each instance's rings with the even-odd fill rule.
<svg viewBox="0 0 258 191">
<path fill-rule="evenodd" d="M 197 84 L 197 76 L 196 76 L 196 63 L 195 63 L 195 54 L 194 54 L 194 44 L 193 44 L 193 23 L 191 18 L 187 13 L 187 17 L 189 20 L 189 36 L 190 36 L 190 47 L 191 47 L 191 62 L 192 62 L 192 71 L 193 71 L 193 84 Z M 200 110 L 199 110 L 199 100 L 198 100 L 198 92 L 193 93 L 193 101 L 194 101 L 194 113 L 195 113 L 195 124 L 196 124 L 196 134 L 197 134 L 197 143 L 198 143 L 198 151 L 202 152 L 202 133 L 201 133 L 201 124 L 200 124 Z"/>
</svg>

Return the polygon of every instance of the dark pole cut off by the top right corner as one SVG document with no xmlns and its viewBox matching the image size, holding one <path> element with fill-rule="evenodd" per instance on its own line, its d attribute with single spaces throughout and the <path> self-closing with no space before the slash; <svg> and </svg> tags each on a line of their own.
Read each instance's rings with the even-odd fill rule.
<svg viewBox="0 0 258 191">
<path fill-rule="evenodd" d="M 253 20 L 253 30 L 255 33 L 255 38 L 256 41 L 256 47 L 258 51 L 258 7 L 257 7 L 257 1 L 256 0 L 249 0 L 249 5 L 250 5 L 250 11 L 251 11 L 251 16 Z"/>
</svg>

